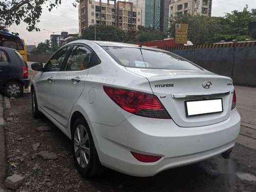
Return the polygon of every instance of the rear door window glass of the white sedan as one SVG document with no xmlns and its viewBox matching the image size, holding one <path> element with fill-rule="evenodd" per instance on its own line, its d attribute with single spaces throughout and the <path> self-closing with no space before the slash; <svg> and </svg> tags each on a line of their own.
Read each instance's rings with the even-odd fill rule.
<svg viewBox="0 0 256 192">
<path fill-rule="evenodd" d="M 92 52 L 83 46 L 74 46 L 67 60 L 66 71 L 80 71 L 90 66 Z"/>
</svg>

